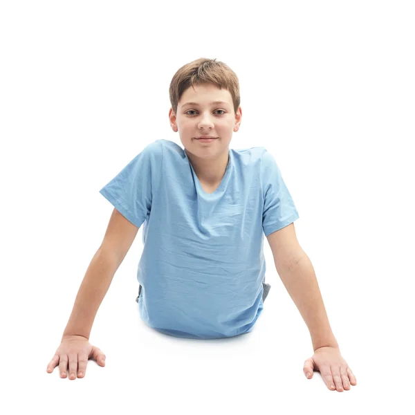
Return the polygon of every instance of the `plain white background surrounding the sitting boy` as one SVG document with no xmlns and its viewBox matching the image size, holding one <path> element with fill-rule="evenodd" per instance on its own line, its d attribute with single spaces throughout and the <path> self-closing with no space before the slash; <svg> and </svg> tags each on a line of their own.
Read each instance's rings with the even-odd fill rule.
<svg viewBox="0 0 415 415">
<path fill-rule="evenodd" d="M 1 2 L 4 413 L 412 413 L 414 19 L 396 0 Z M 181 145 L 169 83 L 199 57 L 239 77 L 230 147 L 264 146 L 282 171 L 349 391 L 304 376 L 311 338 L 265 238 L 272 288 L 252 333 L 145 326 L 142 228 L 91 332 L 106 366 L 46 373 L 113 210 L 99 190 L 150 142 Z"/>
</svg>

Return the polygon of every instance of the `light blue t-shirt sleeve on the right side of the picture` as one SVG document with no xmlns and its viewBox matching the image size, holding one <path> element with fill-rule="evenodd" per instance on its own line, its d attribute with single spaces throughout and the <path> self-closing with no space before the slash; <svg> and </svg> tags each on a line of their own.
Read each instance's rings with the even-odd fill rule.
<svg viewBox="0 0 415 415">
<path fill-rule="evenodd" d="M 299 218 L 293 198 L 284 183 L 282 174 L 272 154 L 264 149 L 261 157 L 262 192 L 264 208 L 262 228 L 266 237 L 285 228 Z"/>
</svg>

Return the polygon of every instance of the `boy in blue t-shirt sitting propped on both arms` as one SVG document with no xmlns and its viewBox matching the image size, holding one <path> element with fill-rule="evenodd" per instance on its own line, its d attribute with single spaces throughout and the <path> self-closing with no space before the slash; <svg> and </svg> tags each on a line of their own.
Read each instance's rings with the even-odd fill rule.
<svg viewBox="0 0 415 415">
<path fill-rule="evenodd" d="M 315 353 L 304 374 L 312 378 L 319 370 L 338 391 L 356 385 L 331 332 L 311 261 L 297 241 L 293 222 L 299 215 L 273 156 L 264 147 L 229 149 L 242 117 L 237 75 L 216 59 L 196 59 L 177 71 L 169 95 L 169 122 L 185 149 L 156 140 L 100 190 L 113 214 L 48 371 L 59 362 L 66 377 L 69 362 L 69 378 L 75 378 L 84 376 L 88 358 L 104 365 L 89 334 L 144 223 L 136 301 L 147 325 L 195 339 L 252 331 L 270 290 L 265 234 L 277 272 L 310 329 Z"/>
</svg>

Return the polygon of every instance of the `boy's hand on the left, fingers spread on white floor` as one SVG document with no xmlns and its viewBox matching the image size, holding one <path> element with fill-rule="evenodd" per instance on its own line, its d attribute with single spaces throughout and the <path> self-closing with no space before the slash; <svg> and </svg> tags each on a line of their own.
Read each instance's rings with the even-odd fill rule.
<svg viewBox="0 0 415 415">
<path fill-rule="evenodd" d="M 66 335 L 62 337 L 61 344 L 50 360 L 46 371 L 51 374 L 59 363 L 61 378 L 66 378 L 69 365 L 69 379 L 83 378 L 85 376 L 86 364 L 89 359 L 94 359 L 98 365 L 105 366 L 105 355 L 98 347 L 89 343 L 82 335 Z"/>
</svg>

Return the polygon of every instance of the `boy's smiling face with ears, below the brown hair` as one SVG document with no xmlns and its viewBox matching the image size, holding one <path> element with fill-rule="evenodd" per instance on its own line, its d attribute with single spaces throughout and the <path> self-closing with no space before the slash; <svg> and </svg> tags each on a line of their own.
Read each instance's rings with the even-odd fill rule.
<svg viewBox="0 0 415 415">
<path fill-rule="evenodd" d="M 214 101 L 223 102 L 211 104 Z M 190 86 L 178 102 L 177 114 L 169 111 L 173 131 L 178 131 L 185 149 L 200 158 L 218 158 L 228 153 L 232 133 L 238 131 L 241 117 L 241 107 L 234 113 L 230 92 L 212 84 L 195 85 L 194 89 Z M 216 139 L 203 142 L 197 140 L 200 136 Z"/>
</svg>

